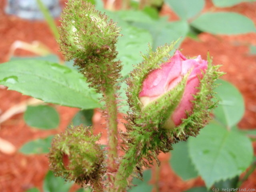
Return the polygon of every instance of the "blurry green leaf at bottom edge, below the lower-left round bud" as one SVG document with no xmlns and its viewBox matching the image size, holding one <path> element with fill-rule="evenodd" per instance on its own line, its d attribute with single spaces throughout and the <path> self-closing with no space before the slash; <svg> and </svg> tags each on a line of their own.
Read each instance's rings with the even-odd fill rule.
<svg viewBox="0 0 256 192">
<path fill-rule="evenodd" d="M 61 177 L 54 176 L 52 171 L 48 171 L 44 178 L 44 192 L 68 192 L 73 185 L 72 182 L 66 182 Z"/>
</svg>

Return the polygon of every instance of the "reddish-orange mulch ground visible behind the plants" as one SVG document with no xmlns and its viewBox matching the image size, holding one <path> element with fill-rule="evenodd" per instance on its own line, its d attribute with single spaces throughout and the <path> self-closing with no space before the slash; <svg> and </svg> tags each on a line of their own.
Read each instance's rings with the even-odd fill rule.
<svg viewBox="0 0 256 192">
<path fill-rule="evenodd" d="M 0 42 L 0 63 L 8 60 L 7 55 L 10 46 L 15 40 L 28 43 L 39 40 L 48 46 L 54 54 L 61 56 L 58 52 L 58 44 L 47 24 L 6 15 L 4 13 L 6 1 L 0 1 L 0 37 L 2 38 Z M 61 1 L 62 5 L 63 2 L 64 0 Z M 206 7 L 212 7 L 210 1 L 207 1 Z M 226 10 L 244 14 L 256 23 L 255 2 L 242 3 Z M 169 15 L 172 20 L 177 18 L 166 6 L 162 9 L 161 14 Z M 59 24 L 58 21 L 56 23 Z M 199 35 L 199 40 L 187 38 L 182 43 L 181 48 L 184 55 L 196 56 L 201 54 L 203 58 L 206 58 L 209 51 L 214 58 L 214 64 L 223 64 L 222 70 L 226 72 L 223 79 L 234 84 L 245 100 L 246 112 L 239 123 L 239 127 L 253 129 L 256 128 L 256 56 L 249 54 L 249 45 L 256 46 L 256 34 L 214 36 L 202 33 Z M 31 53 L 17 50 L 15 55 L 28 56 Z M 8 108 L 28 98 L 28 96 L 23 96 L 15 91 L 0 89 L 0 112 L 5 112 Z M 24 123 L 23 115 L 17 114 L 1 124 L 0 138 L 8 140 L 18 149 L 32 139 L 44 138 L 49 134 L 64 130 L 78 109 L 63 106 L 56 106 L 56 108 L 61 118 L 58 130 L 42 131 L 30 128 Z M 100 113 L 96 112 L 94 124 L 97 128 L 101 128 L 101 123 Z M 162 160 L 159 180 L 161 192 L 182 192 L 191 186 L 203 184 L 200 178 L 184 182 L 176 176 L 168 164 L 170 154 L 161 154 L 159 158 Z M 48 160 L 45 155 L 25 156 L 19 152 L 7 155 L 0 152 L 0 191 L 23 192 L 34 186 L 42 189 L 42 180 L 47 170 Z M 244 182 L 243 187 L 256 188 L 256 172 Z"/>
</svg>

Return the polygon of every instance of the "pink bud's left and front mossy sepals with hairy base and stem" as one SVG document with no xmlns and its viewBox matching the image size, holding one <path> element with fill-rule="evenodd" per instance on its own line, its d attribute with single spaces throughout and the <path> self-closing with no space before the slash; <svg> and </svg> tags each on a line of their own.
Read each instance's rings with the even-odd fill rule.
<svg viewBox="0 0 256 192">
<path fill-rule="evenodd" d="M 128 115 L 127 132 L 124 134 L 126 154 L 116 175 L 117 191 L 126 188 L 129 184 L 128 177 L 131 174 L 140 175 L 138 168 L 153 164 L 154 160 L 158 161 L 157 155 L 161 151 L 168 152 L 172 149 L 172 135 L 163 126 L 182 98 L 188 74 L 175 89 L 170 90 L 146 107 L 142 105 L 138 95 L 150 71 L 159 68 L 160 64 L 170 58 L 169 52 L 173 50 L 176 42 L 158 47 L 155 52 L 150 49 L 149 55 L 143 56 L 144 62 L 135 66 L 127 80 L 126 94 L 132 112 Z"/>
</svg>

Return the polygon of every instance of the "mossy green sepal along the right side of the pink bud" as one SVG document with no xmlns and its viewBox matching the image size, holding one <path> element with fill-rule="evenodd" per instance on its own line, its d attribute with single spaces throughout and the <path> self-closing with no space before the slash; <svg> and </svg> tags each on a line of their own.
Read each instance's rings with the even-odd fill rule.
<svg viewBox="0 0 256 192">
<path fill-rule="evenodd" d="M 187 112 L 187 118 L 182 120 L 182 124 L 171 130 L 172 134 L 180 140 L 186 140 L 188 136 L 196 136 L 201 128 L 204 128 L 212 119 L 211 112 L 216 108 L 217 103 L 214 102 L 215 98 L 214 89 L 218 84 L 215 81 L 222 75 L 223 72 L 219 71 L 220 65 L 212 65 L 212 59 L 208 54 L 208 68 L 200 79 L 198 92 L 194 95 L 192 101 L 194 106 L 192 112 Z"/>
</svg>

